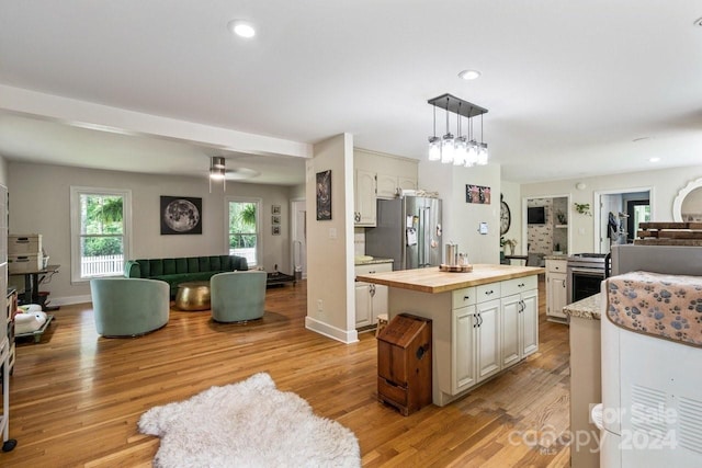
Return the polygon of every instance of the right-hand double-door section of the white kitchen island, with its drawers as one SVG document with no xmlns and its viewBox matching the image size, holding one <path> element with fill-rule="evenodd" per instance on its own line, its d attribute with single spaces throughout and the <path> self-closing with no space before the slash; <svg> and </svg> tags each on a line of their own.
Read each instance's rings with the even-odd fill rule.
<svg viewBox="0 0 702 468">
<path fill-rule="evenodd" d="M 518 363 L 539 349 L 536 276 L 502 282 L 500 328 L 502 367 Z"/>
</svg>

